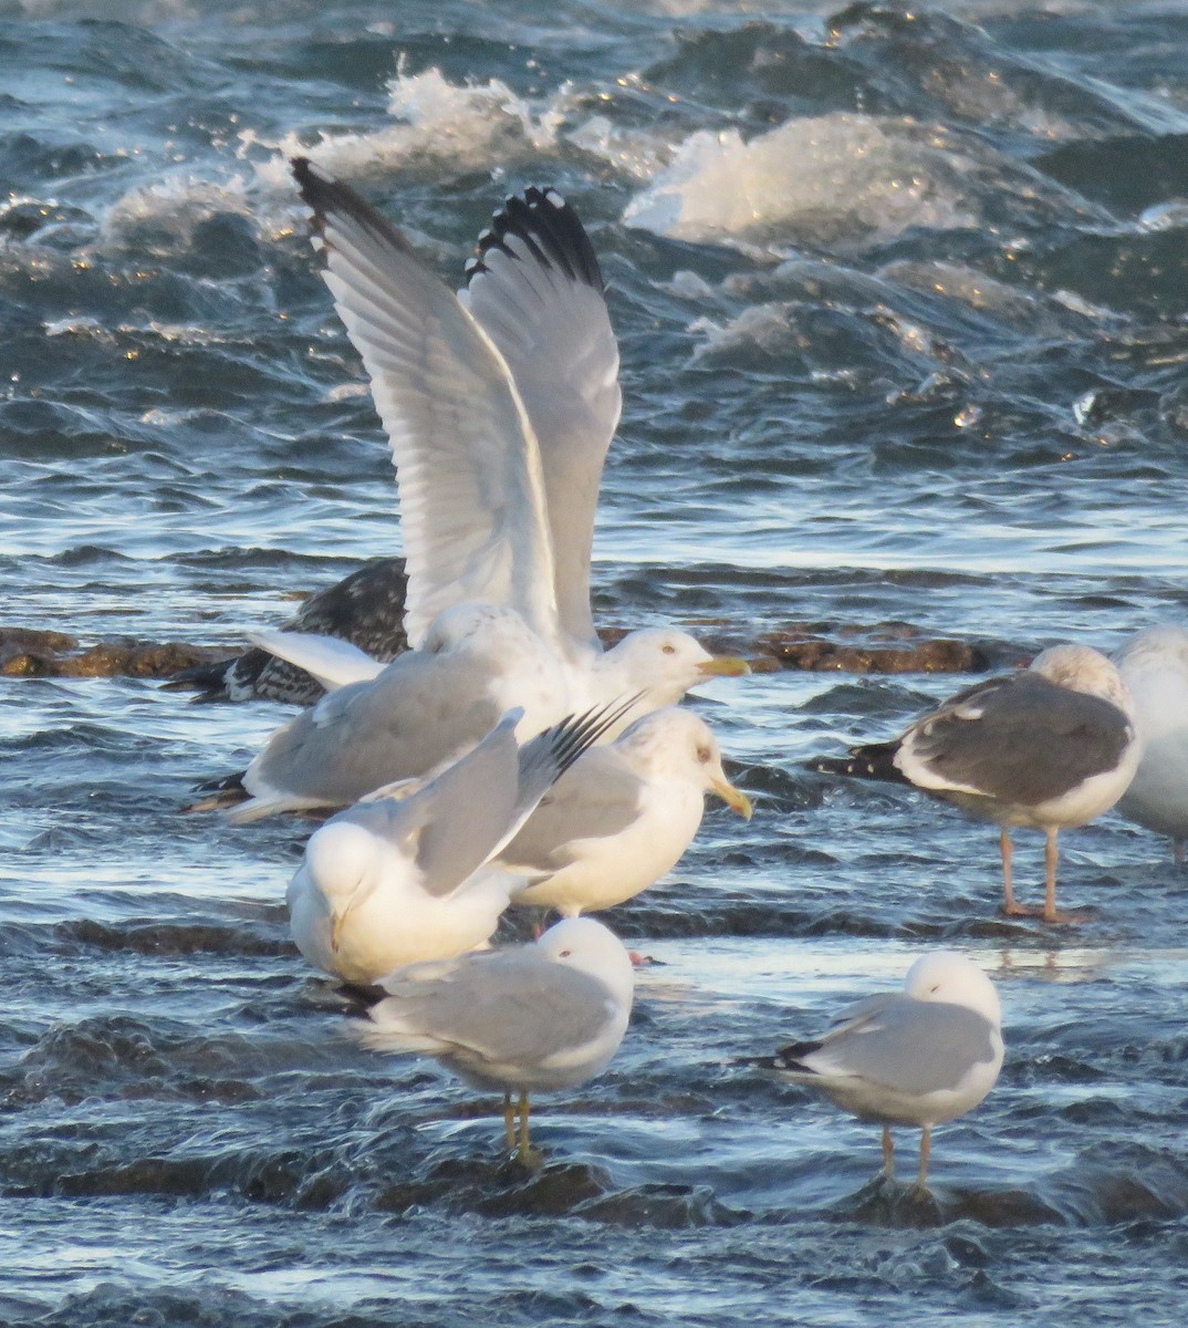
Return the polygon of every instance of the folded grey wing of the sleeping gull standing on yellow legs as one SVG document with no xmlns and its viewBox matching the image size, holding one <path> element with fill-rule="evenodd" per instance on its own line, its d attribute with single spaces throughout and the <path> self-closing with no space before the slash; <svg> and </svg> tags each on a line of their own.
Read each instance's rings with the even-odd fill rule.
<svg viewBox="0 0 1188 1328">
<path fill-rule="evenodd" d="M 390 992 L 372 1011 L 368 1041 L 431 1037 L 487 1061 L 540 1064 L 597 1037 L 613 1015 L 596 977 L 544 959 L 534 947 L 467 955 L 450 972 L 441 965 L 422 979 L 419 964 L 384 983 Z"/>
</svg>

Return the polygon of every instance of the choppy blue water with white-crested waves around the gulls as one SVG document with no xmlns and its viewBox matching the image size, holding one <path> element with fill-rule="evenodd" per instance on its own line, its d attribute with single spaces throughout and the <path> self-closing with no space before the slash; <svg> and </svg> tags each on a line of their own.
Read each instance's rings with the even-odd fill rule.
<svg viewBox="0 0 1188 1328">
<path fill-rule="evenodd" d="M 1026 655 L 1185 616 L 1181 5 L 0 0 L 0 70 L 5 624 L 235 643 L 398 551 L 296 151 L 451 282 L 507 193 L 579 208 L 624 359 L 600 622 Z M 530 1175 L 496 1104 L 342 1035 L 288 940 L 300 827 L 178 815 L 288 712 L 4 679 L 0 1323 L 1179 1323 L 1167 843 L 1071 833 L 1090 919 L 1006 922 L 993 829 L 806 769 L 969 680 L 694 703 L 755 818 L 608 916 L 660 963 Z M 737 1060 L 936 944 L 1007 1058 L 899 1202 L 877 1127 Z"/>
</svg>

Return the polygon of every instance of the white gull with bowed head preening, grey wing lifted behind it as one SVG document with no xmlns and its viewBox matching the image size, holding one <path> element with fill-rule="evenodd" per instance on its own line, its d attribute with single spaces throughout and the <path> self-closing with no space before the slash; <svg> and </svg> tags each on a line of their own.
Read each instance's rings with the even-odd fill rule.
<svg viewBox="0 0 1188 1328">
<path fill-rule="evenodd" d="M 522 714 L 510 710 L 431 780 L 356 803 L 316 830 L 288 888 L 305 959 L 365 984 L 482 946 L 514 883 L 486 863 L 613 717 L 615 708 L 569 718 L 522 745 Z"/>
</svg>

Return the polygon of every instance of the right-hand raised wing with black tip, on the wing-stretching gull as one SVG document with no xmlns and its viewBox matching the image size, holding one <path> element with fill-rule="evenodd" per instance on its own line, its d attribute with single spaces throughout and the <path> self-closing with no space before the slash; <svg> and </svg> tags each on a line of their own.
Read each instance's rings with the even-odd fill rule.
<svg viewBox="0 0 1188 1328">
<path fill-rule="evenodd" d="M 619 345 L 577 214 L 552 189 L 508 198 L 459 299 L 507 361 L 540 446 L 561 627 L 597 647 L 589 611 L 595 509 L 619 424 Z"/>
</svg>

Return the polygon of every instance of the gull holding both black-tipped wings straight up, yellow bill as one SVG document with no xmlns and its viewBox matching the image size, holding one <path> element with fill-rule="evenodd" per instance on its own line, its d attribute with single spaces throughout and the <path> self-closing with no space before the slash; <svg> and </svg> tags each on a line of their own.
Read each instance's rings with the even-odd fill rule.
<svg viewBox="0 0 1188 1328">
<path fill-rule="evenodd" d="M 392 445 L 410 644 L 459 603 L 515 610 L 565 672 L 573 710 L 640 693 L 638 714 L 749 672 L 669 628 L 605 652 L 595 632 L 595 511 L 623 397 L 597 258 L 561 195 L 508 198 L 455 295 L 354 190 L 292 165 Z"/>
</svg>

